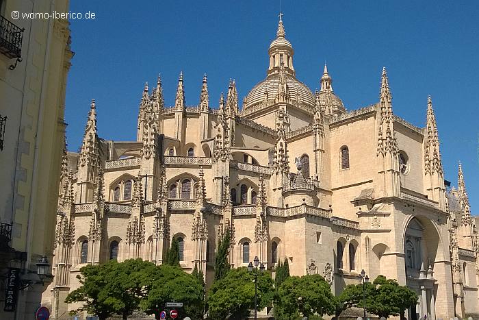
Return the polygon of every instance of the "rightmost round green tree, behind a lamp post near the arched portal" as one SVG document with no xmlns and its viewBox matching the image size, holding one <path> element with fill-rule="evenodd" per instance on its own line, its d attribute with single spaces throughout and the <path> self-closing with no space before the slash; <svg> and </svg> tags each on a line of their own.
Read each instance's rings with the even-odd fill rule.
<svg viewBox="0 0 479 320">
<path fill-rule="evenodd" d="M 343 310 L 357 306 L 363 308 L 363 285 L 350 284 L 339 295 Z M 406 286 L 400 286 L 394 279 L 378 275 L 374 282 L 365 284 L 366 310 L 378 317 L 403 315 L 404 311 L 417 303 L 417 295 Z"/>
</svg>

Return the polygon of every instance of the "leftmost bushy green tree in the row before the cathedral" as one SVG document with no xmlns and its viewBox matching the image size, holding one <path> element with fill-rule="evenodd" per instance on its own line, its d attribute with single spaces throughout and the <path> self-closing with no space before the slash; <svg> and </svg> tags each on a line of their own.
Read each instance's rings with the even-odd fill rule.
<svg viewBox="0 0 479 320">
<path fill-rule="evenodd" d="M 73 312 L 87 310 L 101 319 L 112 314 L 127 319 L 144 298 L 148 287 L 145 275 L 154 268 L 155 264 L 141 259 L 121 263 L 110 260 L 99 266 L 82 267 L 82 276 L 77 277 L 81 286 L 72 291 L 65 301 L 84 303 Z"/>
</svg>

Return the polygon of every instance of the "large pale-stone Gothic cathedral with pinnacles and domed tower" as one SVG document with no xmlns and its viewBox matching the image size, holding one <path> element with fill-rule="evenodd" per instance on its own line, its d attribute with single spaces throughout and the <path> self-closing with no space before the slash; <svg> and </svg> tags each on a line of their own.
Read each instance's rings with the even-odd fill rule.
<svg viewBox="0 0 479 320">
<path fill-rule="evenodd" d="M 146 84 L 135 140 L 100 138 L 92 101 L 81 150 L 62 161 L 55 277 L 43 296 L 53 319 L 78 307 L 64 299 L 81 267 L 162 264 L 172 238 L 183 270 L 196 265 L 211 284 L 226 231 L 232 267 L 257 256 L 274 276 L 287 259 L 292 275 L 321 274 L 335 295 L 364 269 L 417 293 L 408 319 L 479 315 L 476 219 L 461 164 L 457 188 L 444 180 L 432 99 L 416 127 L 393 113 L 385 69 L 371 106 L 347 111 L 326 65 L 313 93 L 281 16 L 268 55 L 242 108 L 234 80 L 213 104 L 205 75 L 198 106 L 185 102 L 182 73 L 171 107 L 159 77 Z"/>
</svg>

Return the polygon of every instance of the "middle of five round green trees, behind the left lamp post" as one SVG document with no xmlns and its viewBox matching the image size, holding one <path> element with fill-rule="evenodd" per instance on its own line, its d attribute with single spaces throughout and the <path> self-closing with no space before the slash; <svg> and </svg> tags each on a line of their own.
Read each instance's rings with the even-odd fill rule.
<svg viewBox="0 0 479 320">
<path fill-rule="evenodd" d="M 255 305 L 255 275 L 246 267 L 231 269 L 226 276 L 216 280 L 208 293 L 211 319 L 244 319 Z M 258 274 L 258 309 L 269 306 L 274 297 L 273 280 L 269 273 Z"/>
</svg>

